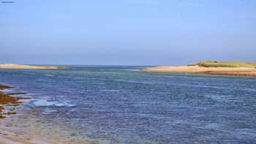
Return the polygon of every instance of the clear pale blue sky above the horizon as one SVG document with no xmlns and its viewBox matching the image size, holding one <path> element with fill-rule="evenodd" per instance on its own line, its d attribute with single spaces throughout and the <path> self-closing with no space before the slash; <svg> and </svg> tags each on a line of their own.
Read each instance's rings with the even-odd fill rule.
<svg viewBox="0 0 256 144">
<path fill-rule="evenodd" d="M 0 1 L 0 63 L 256 62 L 255 0 Z"/>
</svg>

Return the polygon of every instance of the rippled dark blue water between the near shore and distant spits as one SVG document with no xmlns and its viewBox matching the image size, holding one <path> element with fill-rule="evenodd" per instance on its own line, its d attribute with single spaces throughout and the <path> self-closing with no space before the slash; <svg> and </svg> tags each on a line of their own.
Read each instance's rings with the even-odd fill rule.
<svg viewBox="0 0 256 144">
<path fill-rule="evenodd" d="M 256 143 L 256 78 L 140 67 L 0 70 L 38 118 L 110 143 Z"/>
</svg>

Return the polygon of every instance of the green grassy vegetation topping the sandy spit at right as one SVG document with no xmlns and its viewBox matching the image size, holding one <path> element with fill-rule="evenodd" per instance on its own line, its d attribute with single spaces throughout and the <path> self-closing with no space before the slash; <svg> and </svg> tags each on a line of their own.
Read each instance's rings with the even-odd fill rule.
<svg viewBox="0 0 256 144">
<path fill-rule="evenodd" d="M 196 64 L 199 67 L 249 67 L 256 68 L 256 63 L 238 61 L 200 61 Z M 188 66 L 192 66 L 189 64 Z"/>
</svg>

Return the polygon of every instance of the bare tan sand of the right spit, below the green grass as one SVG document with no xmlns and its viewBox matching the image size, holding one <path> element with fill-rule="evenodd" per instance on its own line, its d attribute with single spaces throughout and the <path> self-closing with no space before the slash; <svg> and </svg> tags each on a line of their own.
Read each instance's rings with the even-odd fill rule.
<svg viewBox="0 0 256 144">
<path fill-rule="evenodd" d="M 149 72 L 187 72 L 187 73 L 194 73 L 194 74 L 209 74 L 209 75 L 256 76 L 256 69 L 248 68 L 248 67 L 181 66 L 181 67 L 147 67 L 140 70 L 149 71 Z"/>
</svg>

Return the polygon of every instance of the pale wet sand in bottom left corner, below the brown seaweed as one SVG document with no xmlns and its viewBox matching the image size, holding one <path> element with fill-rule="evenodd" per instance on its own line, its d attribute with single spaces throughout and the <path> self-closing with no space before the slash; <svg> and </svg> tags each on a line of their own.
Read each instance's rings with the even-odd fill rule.
<svg viewBox="0 0 256 144">
<path fill-rule="evenodd" d="M 72 137 L 69 131 L 58 125 L 39 123 L 41 119 L 35 118 L 33 110 L 20 110 L 17 115 L 0 119 L 1 144 L 91 144 L 83 137 Z M 45 120 L 42 120 L 45 121 Z M 51 125 L 51 126 L 49 126 Z"/>
</svg>

